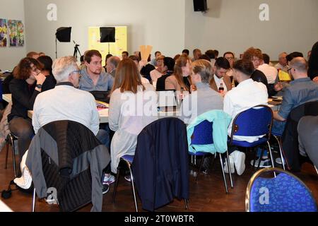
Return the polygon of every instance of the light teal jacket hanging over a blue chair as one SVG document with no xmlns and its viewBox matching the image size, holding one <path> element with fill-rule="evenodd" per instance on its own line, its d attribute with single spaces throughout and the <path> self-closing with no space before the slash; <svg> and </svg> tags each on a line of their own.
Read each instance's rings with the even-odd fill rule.
<svg viewBox="0 0 318 226">
<path fill-rule="evenodd" d="M 194 132 L 194 127 L 204 120 L 213 122 L 213 143 L 208 145 L 192 145 L 191 136 Z M 222 110 L 212 110 L 196 117 L 196 119 L 187 126 L 189 152 L 225 153 L 225 151 L 228 150 L 228 125 L 230 121 L 230 115 Z"/>
</svg>

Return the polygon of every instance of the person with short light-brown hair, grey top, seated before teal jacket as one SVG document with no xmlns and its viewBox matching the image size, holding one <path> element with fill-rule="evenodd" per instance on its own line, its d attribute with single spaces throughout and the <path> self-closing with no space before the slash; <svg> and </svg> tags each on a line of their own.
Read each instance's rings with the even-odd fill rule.
<svg viewBox="0 0 318 226">
<path fill-rule="evenodd" d="M 223 97 L 211 89 L 208 78 L 212 76 L 210 62 L 199 59 L 192 62 L 192 83 L 196 90 L 190 95 L 185 95 L 181 106 L 182 119 L 191 123 L 197 116 L 214 109 L 223 109 Z"/>
</svg>

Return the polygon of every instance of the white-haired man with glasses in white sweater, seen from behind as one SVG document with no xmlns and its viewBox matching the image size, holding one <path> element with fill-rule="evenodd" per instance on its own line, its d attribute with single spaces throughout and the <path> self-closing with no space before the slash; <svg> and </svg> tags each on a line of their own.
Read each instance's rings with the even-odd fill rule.
<svg viewBox="0 0 318 226">
<path fill-rule="evenodd" d="M 83 124 L 105 144 L 105 130 L 99 129 L 100 117 L 92 94 L 78 90 L 80 71 L 73 57 L 56 59 L 52 66 L 57 85 L 40 93 L 33 107 L 32 124 L 35 133 L 52 121 L 71 120 Z M 103 188 L 105 194 L 108 185 Z"/>
</svg>

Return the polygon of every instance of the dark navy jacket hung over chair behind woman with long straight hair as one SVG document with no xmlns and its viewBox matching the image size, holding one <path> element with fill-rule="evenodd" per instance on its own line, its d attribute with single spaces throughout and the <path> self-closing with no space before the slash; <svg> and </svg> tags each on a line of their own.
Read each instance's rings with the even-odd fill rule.
<svg viewBox="0 0 318 226">
<path fill-rule="evenodd" d="M 153 211 L 173 198 L 189 198 L 187 129 L 177 118 L 146 126 L 137 138 L 132 172 L 143 209 Z"/>
</svg>

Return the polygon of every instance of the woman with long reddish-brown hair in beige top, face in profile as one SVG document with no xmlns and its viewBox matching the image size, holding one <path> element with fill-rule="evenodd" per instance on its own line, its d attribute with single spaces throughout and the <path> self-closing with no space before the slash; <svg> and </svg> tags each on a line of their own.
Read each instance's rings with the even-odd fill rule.
<svg viewBox="0 0 318 226">
<path fill-rule="evenodd" d="M 171 76 L 165 79 L 166 90 L 176 90 L 178 92 L 189 91 L 191 84 L 191 59 L 181 56 L 175 62 L 175 69 Z"/>
</svg>

